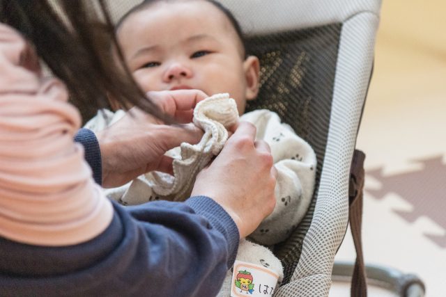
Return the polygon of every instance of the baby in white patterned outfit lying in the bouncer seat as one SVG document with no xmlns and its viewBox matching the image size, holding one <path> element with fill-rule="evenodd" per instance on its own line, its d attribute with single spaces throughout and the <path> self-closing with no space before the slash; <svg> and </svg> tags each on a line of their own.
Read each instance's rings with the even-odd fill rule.
<svg viewBox="0 0 446 297">
<path fill-rule="evenodd" d="M 258 58 L 246 55 L 243 33 L 229 10 L 210 0 L 144 1 L 118 23 L 117 38 L 144 91 L 199 89 L 214 96 L 200 102 L 194 111 L 194 123 L 205 130 L 203 141 L 169 152 L 176 159 L 174 177 L 149 172 L 109 190 L 109 197 L 126 205 L 187 198 L 197 172 L 226 141 L 224 128 L 242 115 L 240 120 L 256 125 L 256 137 L 269 143 L 278 172 L 275 210 L 249 239 L 263 246 L 284 241 L 305 216 L 312 199 L 316 156 L 275 113 L 243 114 L 247 100 L 255 99 L 259 92 L 260 66 Z M 102 112 L 109 116 L 96 116 L 86 128 L 105 129 L 123 115 L 123 111 Z M 282 264 L 268 248 L 256 243 L 240 241 L 237 260 L 266 267 L 280 280 Z M 234 273 L 228 272 L 219 296 L 229 296 L 231 286 L 239 293 L 254 290 L 255 278 L 243 267 L 239 271 L 234 266 Z"/>
</svg>

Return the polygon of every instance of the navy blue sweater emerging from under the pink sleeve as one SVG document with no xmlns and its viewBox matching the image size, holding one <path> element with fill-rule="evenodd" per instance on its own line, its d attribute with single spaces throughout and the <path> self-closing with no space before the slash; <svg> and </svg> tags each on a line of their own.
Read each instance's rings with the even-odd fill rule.
<svg viewBox="0 0 446 297">
<path fill-rule="evenodd" d="M 89 153 L 100 158 L 98 151 Z M 114 209 L 105 232 L 75 246 L 31 246 L 0 238 L 0 296 L 217 294 L 239 239 L 219 204 L 200 196 L 134 207 L 114 203 Z"/>
</svg>

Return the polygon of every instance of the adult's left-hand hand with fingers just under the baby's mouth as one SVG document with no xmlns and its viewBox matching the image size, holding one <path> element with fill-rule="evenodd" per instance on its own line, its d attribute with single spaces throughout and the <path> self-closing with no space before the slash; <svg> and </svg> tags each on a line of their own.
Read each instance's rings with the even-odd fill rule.
<svg viewBox="0 0 446 297">
<path fill-rule="evenodd" d="M 149 92 L 148 97 L 180 123 L 192 122 L 197 102 L 208 97 L 201 90 Z M 172 171 L 172 159 L 164 153 L 181 143 L 198 143 L 203 131 L 193 124 L 165 125 L 159 119 L 132 108 L 114 125 L 97 135 L 102 159 L 102 186 L 121 186 L 146 172 Z"/>
</svg>

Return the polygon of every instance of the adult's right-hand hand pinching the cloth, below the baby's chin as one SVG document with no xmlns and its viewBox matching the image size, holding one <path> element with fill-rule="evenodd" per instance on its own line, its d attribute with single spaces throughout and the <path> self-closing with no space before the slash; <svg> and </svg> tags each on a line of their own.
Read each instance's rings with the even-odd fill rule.
<svg viewBox="0 0 446 297">
<path fill-rule="evenodd" d="M 201 170 L 192 195 L 206 195 L 233 218 L 240 237 L 251 234 L 275 207 L 277 172 L 270 147 L 254 141 L 256 127 L 240 122 L 213 163 Z"/>
</svg>

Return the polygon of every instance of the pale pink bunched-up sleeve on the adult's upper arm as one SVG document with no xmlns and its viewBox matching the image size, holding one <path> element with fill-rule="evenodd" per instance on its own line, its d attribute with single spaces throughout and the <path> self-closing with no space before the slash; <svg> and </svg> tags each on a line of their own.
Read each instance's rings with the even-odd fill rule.
<svg viewBox="0 0 446 297">
<path fill-rule="evenodd" d="M 67 100 L 63 83 L 43 79 L 31 47 L 0 24 L 0 236 L 68 246 L 112 220 L 112 204 L 72 141 L 81 120 Z"/>
</svg>

